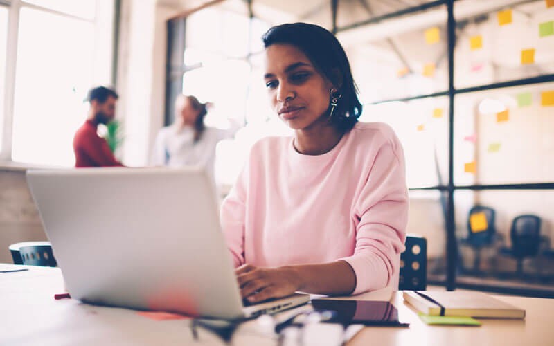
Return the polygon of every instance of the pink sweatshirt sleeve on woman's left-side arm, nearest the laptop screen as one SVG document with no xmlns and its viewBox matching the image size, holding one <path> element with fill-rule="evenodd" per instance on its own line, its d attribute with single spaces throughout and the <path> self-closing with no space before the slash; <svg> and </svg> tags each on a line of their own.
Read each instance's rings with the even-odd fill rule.
<svg viewBox="0 0 554 346">
<path fill-rule="evenodd" d="M 244 218 L 246 217 L 246 189 L 249 179 L 246 165 L 231 192 L 225 197 L 220 222 L 224 230 L 227 248 L 231 251 L 235 268 L 244 264 Z"/>
</svg>

